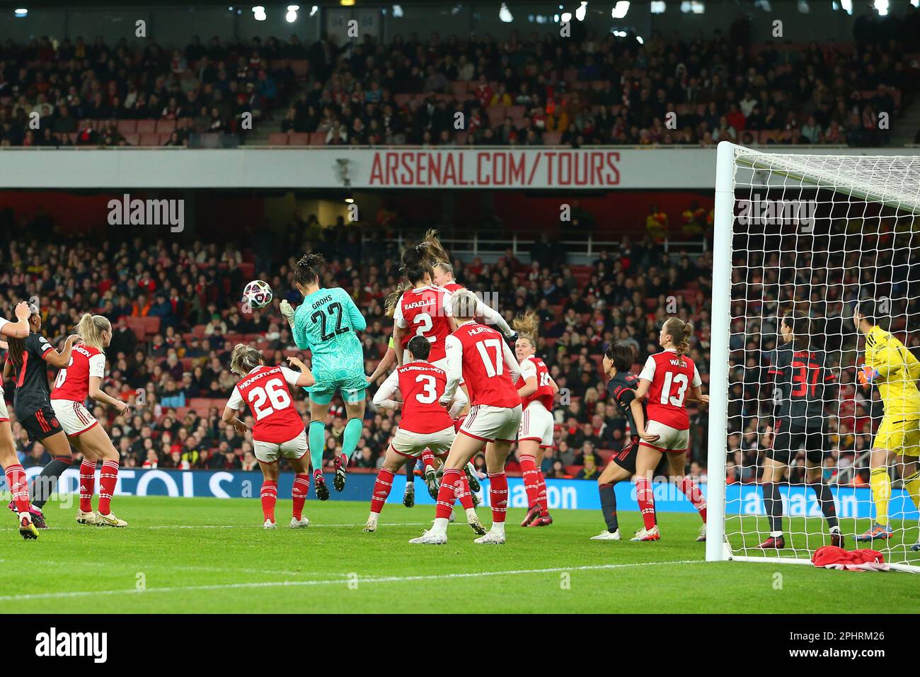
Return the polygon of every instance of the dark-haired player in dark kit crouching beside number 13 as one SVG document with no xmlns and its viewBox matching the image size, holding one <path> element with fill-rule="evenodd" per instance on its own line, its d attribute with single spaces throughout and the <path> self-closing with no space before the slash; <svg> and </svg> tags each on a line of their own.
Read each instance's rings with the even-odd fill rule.
<svg viewBox="0 0 920 677">
<path fill-rule="evenodd" d="M 638 426 L 645 425 L 645 419 L 642 406 L 639 405 L 635 411 L 632 406 L 633 400 L 636 399 L 636 389 L 638 388 L 638 376 L 630 371 L 635 358 L 636 354 L 633 352 L 632 345 L 623 341 L 608 345 L 604 353 L 602 362 L 604 373 L 610 377 L 610 380 L 607 381 L 607 391 L 610 392 L 616 408 L 620 410 L 620 414 L 623 414 L 627 419 L 630 438 L 623 449 L 617 452 L 607 463 L 607 467 L 597 478 L 597 490 L 601 497 L 601 511 L 604 513 L 604 522 L 606 522 L 607 528 L 596 536 L 592 536 L 592 541 L 620 540 L 614 487 L 615 484 L 625 482 L 636 474 L 636 458 L 639 444 L 637 430 Z M 642 416 L 642 418 L 637 421 L 638 416 Z"/>
</svg>

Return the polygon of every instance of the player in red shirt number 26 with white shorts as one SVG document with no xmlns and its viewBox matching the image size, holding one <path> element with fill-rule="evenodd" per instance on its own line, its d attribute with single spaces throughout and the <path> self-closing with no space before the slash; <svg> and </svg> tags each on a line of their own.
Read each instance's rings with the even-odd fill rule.
<svg viewBox="0 0 920 677">
<path fill-rule="evenodd" d="M 282 456 L 293 468 L 293 517 L 291 528 L 299 529 L 310 523 L 304 515 L 306 492 L 310 487 L 308 472 L 309 447 L 304 421 L 293 405 L 290 386 L 309 388 L 315 382 L 313 374 L 297 357 L 288 357 L 293 367 L 266 367 L 262 354 L 245 344 L 236 344 L 230 356 L 230 370 L 243 379 L 236 384 L 224 407 L 224 423 L 245 435 L 248 430 L 236 415 L 245 405 L 255 419 L 252 426 L 252 446 L 262 470 L 262 518 L 265 529 L 275 529 L 275 503 L 278 500 L 278 461 Z M 306 458 L 305 458 L 306 457 Z"/>
</svg>

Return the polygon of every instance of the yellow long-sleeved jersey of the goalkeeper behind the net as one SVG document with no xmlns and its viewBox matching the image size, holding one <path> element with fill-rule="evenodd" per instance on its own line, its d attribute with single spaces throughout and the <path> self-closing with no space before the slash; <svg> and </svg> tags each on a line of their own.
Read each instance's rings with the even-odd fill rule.
<svg viewBox="0 0 920 677">
<path fill-rule="evenodd" d="M 879 371 L 875 384 L 885 404 L 885 418 L 920 419 L 920 391 L 916 385 L 920 360 L 891 333 L 875 326 L 866 336 L 866 364 Z"/>
</svg>

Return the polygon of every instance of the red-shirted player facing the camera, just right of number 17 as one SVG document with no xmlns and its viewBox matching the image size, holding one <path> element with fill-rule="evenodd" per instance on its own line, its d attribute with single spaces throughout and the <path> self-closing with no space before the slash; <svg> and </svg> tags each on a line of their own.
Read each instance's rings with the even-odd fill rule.
<svg viewBox="0 0 920 677">
<path fill-rule="evenodd" d="M 512 321 L 518 334 L 514 355 L 521 364 L 521 378 L 515 386 L 521 396 L 521 427 L 518 429 L 518 461 L 527 492 L 527 514 L 522 527 L 544 527 L 553 523 L 546 504 L 546 478 L 540 471 L 544 449 L 553 446 L 553 402 L 559 391 L 549 376 L 543 360 L 536 356 L 536 330 L 539 320 L 535 312 L 527 312 Z"/>
</svg>

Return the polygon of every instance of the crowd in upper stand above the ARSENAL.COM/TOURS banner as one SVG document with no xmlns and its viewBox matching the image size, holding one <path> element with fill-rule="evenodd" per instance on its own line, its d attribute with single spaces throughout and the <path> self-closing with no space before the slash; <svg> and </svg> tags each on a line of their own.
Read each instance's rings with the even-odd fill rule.
<svg viewBox="0 0 920 677">
<path fill-rule="evenodd" d="M 906 11 L 857 26 L 852 43 L 778 47 L 752 45 L 744 21 L 728 36 L 656 33 L 644 44 L 581 24 L 565 40 L 214 37 L 175 51 L 6 41 L 0 144 L 126 145 L 120 121 L 153 119 L 167 122 L 166 145 L 187 145 L 192 133 L 238 132 L 244 111 L 258 121 L 279 110 L 272 142 L 282 144 L 878 146 L 879 113 L 896 119 L 918 88 L 905 45 L 920 9 Z M 40 130 L 29 128 L 33 112 Z"/>
</svg>

